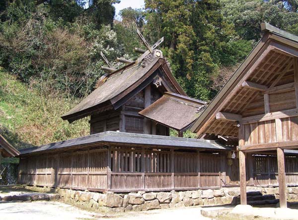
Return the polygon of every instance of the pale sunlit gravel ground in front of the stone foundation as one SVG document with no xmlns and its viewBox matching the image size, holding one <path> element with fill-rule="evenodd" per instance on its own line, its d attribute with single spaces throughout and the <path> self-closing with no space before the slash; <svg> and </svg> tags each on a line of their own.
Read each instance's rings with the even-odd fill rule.
<svg viewBox="0 0 298 220">
<path fill-rule="evenodd" d="M 130 212 L 105 216 L 59 202 L 0 203 L 1 220 L 211 220 L 201 216 L 200 207 Z"/>
</svg>

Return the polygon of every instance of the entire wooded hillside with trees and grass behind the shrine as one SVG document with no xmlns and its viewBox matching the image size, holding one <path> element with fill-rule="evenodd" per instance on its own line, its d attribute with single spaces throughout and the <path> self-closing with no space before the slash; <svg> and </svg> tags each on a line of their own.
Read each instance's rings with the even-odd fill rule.
<svg viewBox="0 0 298 220">
<path fill-rule="evenodd" d="M 17 148 L 89 133 L 88 118 L 60 116 L 103 74 L 102 51 L 135 59 L 164 36 L 160 49 L 191 97 L 210 101 L 261 38 L 267 21 L 298 34 L 295 0 L 145 0 L 115 20 L 119 0 L 0 1 L 0 134 Z M 88 5 L 88 6 L 86 6 Z"/>
</svg>

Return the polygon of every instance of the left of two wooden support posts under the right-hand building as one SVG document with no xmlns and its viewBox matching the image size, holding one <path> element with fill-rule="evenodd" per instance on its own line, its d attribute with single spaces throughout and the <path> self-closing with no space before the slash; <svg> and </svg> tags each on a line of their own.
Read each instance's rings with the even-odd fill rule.
<svg viewBox="0 0 298 220">
<path fill-rule="evenodd" d="M 241 147 L 244 146 L 244 128 L 243 125 L 239 127 L 239 177 L 240 177 L 240 203 L 241 205 L 247 205 L 246 201 L 246 170 L 245 170 L 245 153 L 241 151 Z"/>
</svg>

